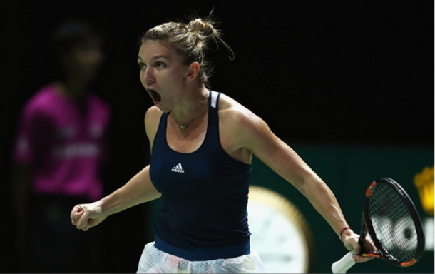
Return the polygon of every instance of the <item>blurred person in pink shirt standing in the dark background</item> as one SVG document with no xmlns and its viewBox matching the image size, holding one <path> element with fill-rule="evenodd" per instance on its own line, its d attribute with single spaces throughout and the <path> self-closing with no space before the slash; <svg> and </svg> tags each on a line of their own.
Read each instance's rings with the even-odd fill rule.
<svg viewBox="0 0 435 274">
<path fill-rule="evenodd" d="M 73 20 L 58 26 L 50 42 L 59 75 L 26 102 L 13 155 L 19 271 L 96 272 L 93 265 L 101 264 L 86 260 L 101 254 L 101 233 L 83 235 L 68 215 L 73 205 L 103 197 L 111 109 L 90 91 L 103 62 L 103 36 Z"/>
</svg>

